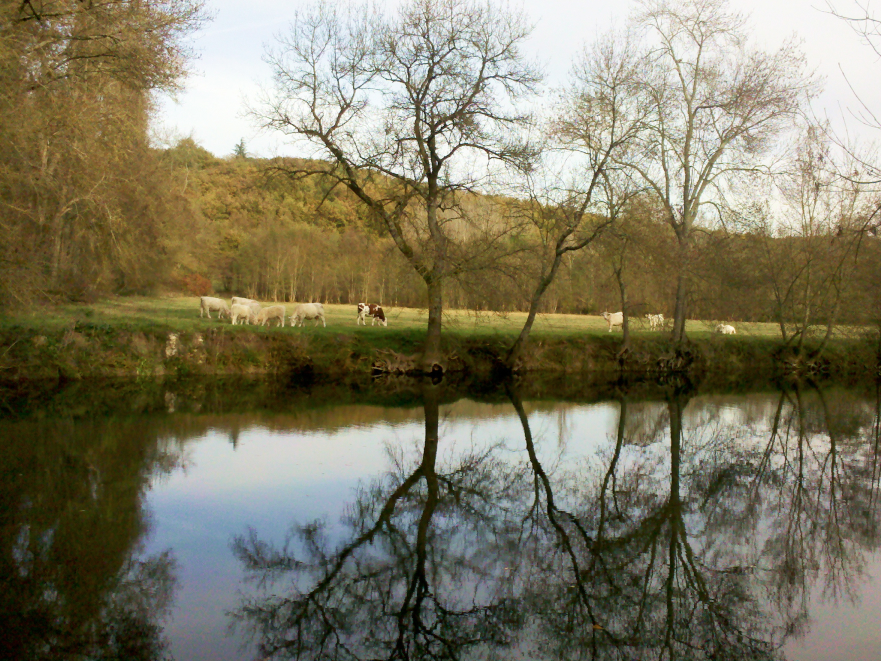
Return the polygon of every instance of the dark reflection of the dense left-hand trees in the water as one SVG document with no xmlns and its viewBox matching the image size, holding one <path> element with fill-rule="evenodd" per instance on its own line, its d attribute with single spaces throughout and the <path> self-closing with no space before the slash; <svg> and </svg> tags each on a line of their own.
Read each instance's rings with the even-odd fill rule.
<svg viewBox="0 0 881 661">
<path fill-rule="evenodd" d="M 137 558 L 150 480 L 176 462 L 141 420 L 0 426 L 0 658 L 160 658 L 170 551 Z"/>
</svg>

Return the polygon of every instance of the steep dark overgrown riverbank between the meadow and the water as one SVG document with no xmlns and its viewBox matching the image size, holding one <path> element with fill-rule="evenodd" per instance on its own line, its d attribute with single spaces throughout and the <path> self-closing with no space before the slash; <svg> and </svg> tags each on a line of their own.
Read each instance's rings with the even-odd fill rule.
<svg viewBox="0 0 881 661">
<path fill-rule="evenodd" d="M 424 331 L 410 328 L 274 329 L 227 323 L 198 329 L 131 323 L 75 322 L 66 328 L 0 327 L 0 380 L 107 377 L 267 376 L 310 382 L 320 377 L 406 373 L 416 364 Z M 444 334 L 444 371 L 498 372 L 510 333 L 452 330 Z M 664 333 L 635 333 L 626 352 L 620 333 L 536 331 L 522 372 L 567 375 L 685 373 L 732 382 L 808 377 L 866 378 L 878 373 L 877 340 L 836 338 L 822 356 L 795 361 L 768 336 L 691 337 L 676 351 Z"/>
</svg>

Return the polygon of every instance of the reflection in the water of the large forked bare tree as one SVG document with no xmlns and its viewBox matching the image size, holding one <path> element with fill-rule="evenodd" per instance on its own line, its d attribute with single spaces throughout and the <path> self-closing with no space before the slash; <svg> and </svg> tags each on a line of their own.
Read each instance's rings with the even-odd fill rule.
<svg viewBox="0 0 881 661">
<path fill-rule="evenodd" d="M 421 456 L 394 456 L 394 469 L 358 494 L 349 541 L 331 549 L 320 524 L 297 530 L 296 555 L 253 533 L 236 541 L 247 570 L 272 588 L 235 614 L 262 655 L 454 658 L 507 645 L 522 628 L 523 609 L 503 588 L 519 554 L 508 503 L 521 500 L 522 475 L 494 447 L 439 460 L 440 389 L 422 387 Z M 290 594 L 275 596 L 286 575 Z"/>
</svg>

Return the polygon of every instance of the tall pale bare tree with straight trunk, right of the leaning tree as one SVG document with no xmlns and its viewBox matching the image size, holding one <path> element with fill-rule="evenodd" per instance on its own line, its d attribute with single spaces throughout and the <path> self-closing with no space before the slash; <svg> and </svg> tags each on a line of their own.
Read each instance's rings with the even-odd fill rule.
<svg viewBox="0 0 881 661">
<path fill-rule="evenodd" d="M 729 175 L 761 169 L 812 89 L 792 44 L 765 53 L 747 45 L 745 20 L 726 0 L 645 0 L 636 16 L 648 66 L 650 111 L 638 158 L 626 163 L 654 191 L 678 241 L 673 340 L 685 340 L 688 262 L 704 209 Z"/>
</svg>

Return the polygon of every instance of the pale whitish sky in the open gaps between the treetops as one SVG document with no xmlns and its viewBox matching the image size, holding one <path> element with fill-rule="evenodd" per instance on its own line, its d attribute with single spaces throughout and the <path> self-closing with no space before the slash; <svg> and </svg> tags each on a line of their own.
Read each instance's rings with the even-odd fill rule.
<svg viewBox="0 0 881 661">
<path fill-rule="evenodd" d="M 852 6 L 852 0 L 834 1 L 843 8 Z M 252 155 L 291 154 L 283 137 L 256 129 L 245 116 L 245 104 L 269 81 L 270 70 L 262 59 L 265 46 L 286 30 L 294 10 L 303 4 L 305 0 L 207 0 L 214 20 L 194 36 L 199 59 L 185 90 L 177 99 L 160 100 L 158 141 L 192 135 L 203 147 L 225 156 L 244 138 Z M 530 47 L 549 84 L 561 82 L 583 45 L 622 25 L 633 7 L 629 0 L 523 0 L 521 4 L 535 22 Z M 765 48 L 776 48 L 793 34 L 803 40 L 810 66 L 825 79 L 818 113 L 827 114 L 839 131 L 846 126 L 867 139 L 881 137 L 851 116 L 859 110 L 859 102 L 845 79 L 846 75 L 869 107 L 881 111 L 877 84 L 881 62 L 847 25 L 820 11 L 825 0 L 734 0 L 732 4 L 751 16 L 753 35 Z"/>
</svg>

